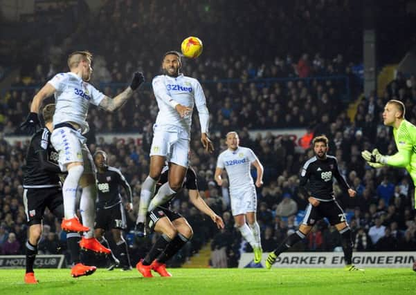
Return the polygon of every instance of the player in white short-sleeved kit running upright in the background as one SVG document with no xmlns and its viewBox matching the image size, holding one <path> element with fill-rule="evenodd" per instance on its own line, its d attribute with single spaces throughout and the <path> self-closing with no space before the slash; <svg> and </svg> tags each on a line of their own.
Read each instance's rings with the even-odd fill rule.
<svg viewBox="0 0 416 295">
<path fill-rule="evenodd" d="M 261 187 L 263 184 L 264 169 L 251 149 L 239 146 L 239 137 L 236 132 L 227 133 L 226 144 L 228 149 L 218 156 L 215 181 L 221 187 L 221 173 L 226 169 L 230 181 L 231 211 L 235 226 L 239 229 L 243 238 L 253 247 L 254 262 L 260 263 L 262 260 L 262 245 L 260 227 L 255 218 L 257 195 L 250 168 L 253 165 L 257 170 L 256 187 Z"/>
</svg>

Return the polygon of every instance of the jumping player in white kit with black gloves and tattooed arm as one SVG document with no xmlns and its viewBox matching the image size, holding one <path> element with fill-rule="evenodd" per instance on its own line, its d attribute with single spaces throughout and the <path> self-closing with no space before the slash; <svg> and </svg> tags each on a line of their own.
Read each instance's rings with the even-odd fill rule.
<svg viewBox="0 0 416 295">
<path fill-rule="evenodd" d="M 33 131 L 39 125 L 37 114 L 46 97 L 55 95 L 56 110 L 53 116 L 54 130 L 51 142 L 59 153 L 58 162 L 62 171 L 68 175 L 62 187 L 64 197 L 64 220 L 62 229 L 65 231 L 84 231 L 80 247 L 91 251 L 110 253 L 109 249 L 100 245 L 93 238 L 96 202 L 95 166 L 91 153 L 85 144 L 89 126 L 86 122 L 89 104 L 100 106 L 107 111 L 115 111 L 132 96 L 133 92 L 144 82 L 143 73 L 134 73 L 129 87 L 111 99 L 100 93 L 89 84 L 92 55 L 88 51 L 75 51 L 68 57 L 68 73 L 55 75 L 33 97 L 30 114 L 23 129 Z M 75 214 L 75 199 L 78 186 L 82 187 L 80 213 L 82 225 Z"/>
</svg>

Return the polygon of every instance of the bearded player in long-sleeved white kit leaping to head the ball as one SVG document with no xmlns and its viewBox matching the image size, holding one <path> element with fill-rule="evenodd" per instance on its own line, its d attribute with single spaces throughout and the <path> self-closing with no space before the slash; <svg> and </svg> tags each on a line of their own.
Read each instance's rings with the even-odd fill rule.
<svg viewBox="0 0 416 295">
<path fill-rule="evenodd" d="M 154 77 L 152 82 L 159 113 L 153 126 L 150 173 L 141 187 L 136 222 L 138 236 L 145 234 L 147 208 L 165 161 L 169 162 L 168 182 L 161 186 L 155 198 L 160 198 L 162 202 L 168 200 L 182 187 L 189 164 L 190 126 L 195 106 L 201 124 L 201 142 L 206 151 L 213 151 L 208 138 L 209 113 L 201 84 L 197 79 L 181 73 L 181 55 L 177 51 L 165 53 L 162 70 L 163 75 Z"/>
</svg>

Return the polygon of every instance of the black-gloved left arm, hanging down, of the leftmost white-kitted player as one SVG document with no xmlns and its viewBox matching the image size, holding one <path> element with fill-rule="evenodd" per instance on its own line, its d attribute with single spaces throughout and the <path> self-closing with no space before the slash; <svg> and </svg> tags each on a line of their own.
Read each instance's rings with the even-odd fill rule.
<svg viewBox="0 0 416 295">
<path fill-rule="evenodd" d="M 46 83 L 45 86 L 43 86 L 42 89 L 36 93 L 35 97 L 33 97 L 32 104 L 30 104 L 30 113 L 26 118 L 26 121 L 20 125 L 21 130 L 32 134 L 40 128 L 39 117 L 37 117 L 40 106 L 42 106 L 44 99 L 53 95 L 55 91 L 56 89 L 52 86 L 52 84 Z"/>
</svg>

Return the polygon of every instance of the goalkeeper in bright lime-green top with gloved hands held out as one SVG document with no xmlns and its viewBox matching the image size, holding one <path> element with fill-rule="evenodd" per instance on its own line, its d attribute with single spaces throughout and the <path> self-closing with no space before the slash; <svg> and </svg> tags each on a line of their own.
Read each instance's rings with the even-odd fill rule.
<svg viewBox="0 0 416 295">
<path fill-rule="evenodd" d="M 413 184 L 416 184 L 416 126 L 404 119 L 405 108 L 399 100 L 389 100 L 383 111 L 383 124 L 393 127 L 398 152 L 395 155 L 381 155 L 377 149 L 361 155 L 374 168 L 393 166 L 406 168 Z M 415 202 L 416 208 L 416 193 Z"/>
</svg>

